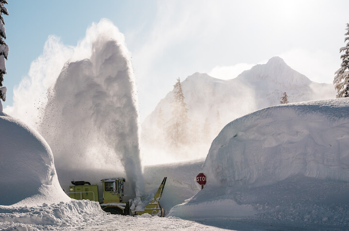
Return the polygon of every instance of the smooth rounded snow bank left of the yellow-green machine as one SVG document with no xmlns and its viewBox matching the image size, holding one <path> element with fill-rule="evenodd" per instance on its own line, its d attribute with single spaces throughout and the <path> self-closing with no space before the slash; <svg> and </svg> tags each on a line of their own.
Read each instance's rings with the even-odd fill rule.
<svg viewBox="0 0 349 231">
<path fill-rule="evenodd" d="M 51 149 L 39 133 L 0 112 L 0 142 L 1 205 L 70 201 L 59 185 Z"/>
</svg>

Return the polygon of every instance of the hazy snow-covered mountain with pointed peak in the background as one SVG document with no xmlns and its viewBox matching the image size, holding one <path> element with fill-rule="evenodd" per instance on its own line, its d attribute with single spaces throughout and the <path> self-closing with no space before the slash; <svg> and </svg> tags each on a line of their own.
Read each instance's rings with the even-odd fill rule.
<svg viewBox="0 0 349 231">
<path fill-rule="evenodd" d="M 182 81 L 181 86 L 190 118 L 190 133 L 197 134 L 196 138 L 202 141 L 193 142 L 200 144 L 195 144 L 193 149 L 198 150 L 195 154 L 187 153 L 185 158 L 188 160 L 204 158 L 210 143 L 224 125 L 255 110 L 280 104 L 284 92 L 290 102 L 334 99 L 336 94 L 332 84 L 309 80 L 279 57 L 273 57 L 266 64 L 256 65 L 230 80 L 196 72 Z M 168 143 L 165 139 L 166 126 L 172 116 L 173 98 L 174 92 L 171 91 L 143 121 L 141 142 L 145 153 L 154 152 L 159 144 L 165 147 Z M 160 117 L 164 125 L 159 123 Z M 183 155 L 180 160 L 182 158 Z"/>
</svg>

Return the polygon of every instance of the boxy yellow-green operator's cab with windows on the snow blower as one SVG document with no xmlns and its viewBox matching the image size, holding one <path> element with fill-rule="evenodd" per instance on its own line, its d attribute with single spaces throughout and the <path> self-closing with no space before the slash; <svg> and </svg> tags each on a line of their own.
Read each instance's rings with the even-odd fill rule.
<svg viewBox="0 0 349 231">
<path fill-rule="evenodd" d="M 101 181 L 103 185 L 103 203 L 122 202 L 125 178 L 106 178 Z"/>
</svg>

